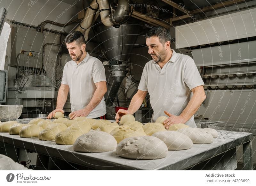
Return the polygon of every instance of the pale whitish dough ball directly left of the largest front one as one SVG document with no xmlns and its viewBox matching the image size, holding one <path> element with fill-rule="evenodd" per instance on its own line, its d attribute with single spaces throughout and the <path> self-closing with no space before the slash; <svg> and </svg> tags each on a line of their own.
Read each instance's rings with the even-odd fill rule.
<svg viewBox="0 0 256 186">
<path fill-rule="evenodd" d="M 84 153 L 100 153 L 115 150 L 116 139 L 102 131 L 90 131 L 78 137 L 73 145 L 75 151 Z"/>
</svg>

